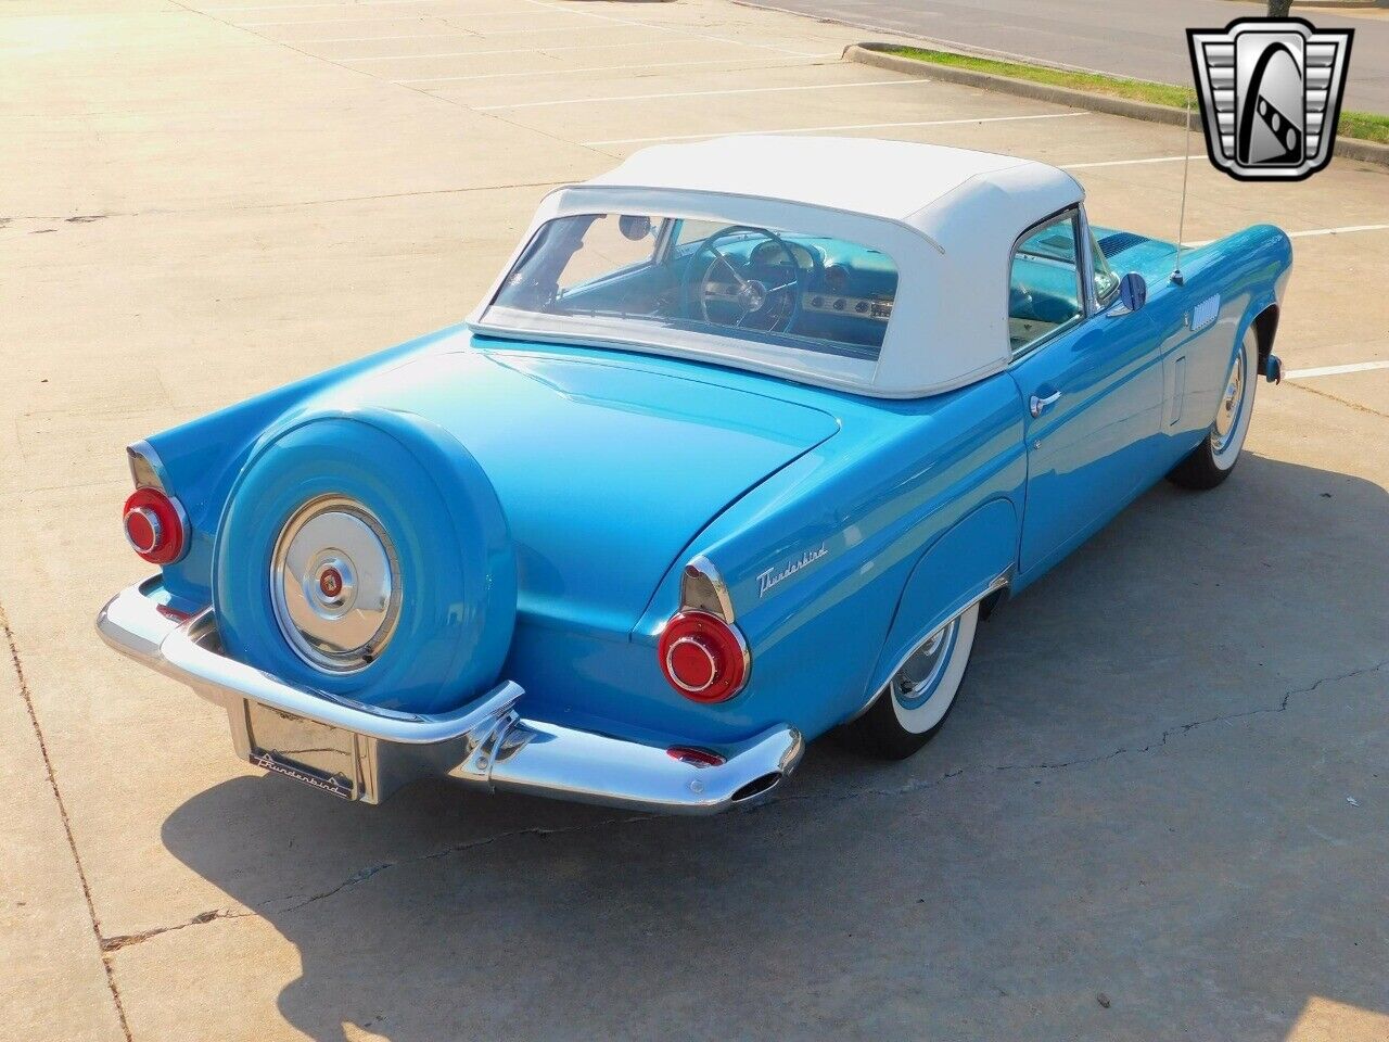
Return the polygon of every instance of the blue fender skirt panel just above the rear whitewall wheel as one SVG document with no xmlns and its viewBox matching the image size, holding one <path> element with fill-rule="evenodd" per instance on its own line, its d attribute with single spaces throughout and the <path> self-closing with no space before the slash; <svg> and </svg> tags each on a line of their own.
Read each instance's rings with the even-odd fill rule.
<svg viewBox="0 0 1389 1042">
<path fill-rule="evenodd" d="M 1007 579 L 1018 556 L 1018 511 L 995 499 L 961 518 L 917 560 L 872 671 L 878 692 L 911 649 Z"/>
</svg>

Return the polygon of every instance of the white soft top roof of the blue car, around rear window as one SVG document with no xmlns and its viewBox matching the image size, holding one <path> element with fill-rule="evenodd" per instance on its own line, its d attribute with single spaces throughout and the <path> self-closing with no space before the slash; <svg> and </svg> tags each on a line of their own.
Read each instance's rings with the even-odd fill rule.
<svg viewBox="0 0 1389 1042">
<path fill-rule="evenodd" d="M 1013 245 L 1026 228 L 1083 197 L 1075 178 L 1056 167 L 938 144 L 778 135 L 663 144 L 550 193 L 469 321 L 482 332 L 613 343 L 860 395 L 935 395 L 1007 367 Z M 561 329 L 500 308 L 486 315 L 540 225 L 604 213 L 760 225 L 840 238 L 886 254 L 897 265 L 899 283 L 876 361 L 764 347 L 711 332 L 676 335 L 597 321 Z"/>
</svg>

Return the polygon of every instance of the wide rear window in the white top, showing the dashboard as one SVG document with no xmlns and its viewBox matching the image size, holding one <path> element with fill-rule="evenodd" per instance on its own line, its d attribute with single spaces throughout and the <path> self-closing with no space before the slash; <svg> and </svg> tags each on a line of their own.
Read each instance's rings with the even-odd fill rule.
<svg viewBox="0 0 1389 1042">
<path fill-rule="evenodd" d="M 842 239 L 582 214 L 540 228 L 482 321 L 574 331 L 585 318 L 607 329 L 615 320 L 633 340 L 656 326 L 876 360 L 896 295 L 892 258 Z"/>
</svg>

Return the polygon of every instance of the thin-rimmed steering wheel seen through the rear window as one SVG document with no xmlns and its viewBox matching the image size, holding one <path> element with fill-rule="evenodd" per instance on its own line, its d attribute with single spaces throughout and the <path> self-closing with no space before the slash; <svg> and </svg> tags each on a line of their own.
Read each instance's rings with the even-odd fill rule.
<svg viewBox="0 0 1389 1042">
<path fill-rule="evenodd" d="M 754 261 L 758 246 L 753 246 L 746 257 L 729 256 L 718 249 L 725 239 L 749 235 L 772 243 L 790 267 L 783 270 L 776 264 Z M 701 261 L 706 256 L 708 256 L 707 264 Z M 789 282 L 785 281 L 788 271 Z M 800 317 L 804 282 L 806 272 L 779 235 L 765 228 L 735 224 L 708 236 L 690 254 L 685 265 L 681 296 L 685 300 L 688 318 L 735 329 L 785 333 L 790 332 Z"/>
</svg>

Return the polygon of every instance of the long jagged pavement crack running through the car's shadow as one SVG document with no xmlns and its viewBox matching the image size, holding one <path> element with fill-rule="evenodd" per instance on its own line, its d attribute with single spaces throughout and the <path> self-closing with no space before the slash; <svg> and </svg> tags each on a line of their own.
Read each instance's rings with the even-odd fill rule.
<svg viewBox="0 0 1389 1042">
<path fill-rule="evenodd" d="M 1321 677 L 1317 681 L 1314 681 L 1313 684 L 1308 684 L 1308 685 L 1306 685 L 1303 688 L 1292 688 L 1290 690 L 1285 692 L 1282 695 L 1282 697 L 1278 700 L 1278 703 L 1274 704 L 1274 706 L 1258 706 L 1256 709 L 1240 710 L 1239 713 L 1222 713 L 1222 714 L 1218 714 L 1218 716 L 1214 716 L 1214 717 L 1204 717 L 1201 720 L 1193 720 L 1193 721 L 1189 721 L 1186 724 L 1178 724 L 1175 727 L 1165 728 L 1163 731 L 1163 734 L 1156 741 L 1149 742 L 1147 745 L 1143 745 L 1143 746 L 1121 746 L 1120 749 L 1115 749 L 1113 752 L 1103 753 L 1103 754 L 1099 754 L 1099 756 L 1085 756 L 1085 757 L 1078 757 L 1075 760 L 1061 760 L 1061 761 L 1056 761 L 1056 763 L 1043 761 L 1043 763 L 979 764 L 979 766 L 974 766 L 974 767 L 957 767 L 957 768 L 954 768 L 951 771 L 946 771 L 945 774 L 942 774 L 942 775 L 939 775 L 936 778 L 915 778 L 915 779 L 904 782 L 903 785 L 897 785 L 897 786 L 892 786 L 892 788 L 863 786 L 863 788 L 854 788 L 854 789 L 845 789 L 845 791 L 839 791 L 839 792 L 792 793 L 792 795 L 786 795 L 786 796 L 779 796 L 779 797 L 770 799 L 765 803 L 760 803 L 760 804 L 756 804 L 756 806 L 751 806 L 751 807 L 746 807 L 740 813 L 743 813 L 743 814 L 756 814 L 756 813 L 760 813 L 760 811 L 765 811 L 768 807 L 774 807 L 774 806 L 778 806 L 778 804 L 801 803 L 801 802 L 810 802 L 810 800 L 835 800 L 835 802 L 843 802 L 843 800 L 863 799 L 865 796 L 904 796 L 904 795 L 910 795 L 910 793 L 914 793 L 914 792 L 922 792 L 925 789 L 936 788 L 936 786 L 943 785 L 943 784 L 946 784 L 949 781 L 953 781 L 956 778 L 961 778 L 961 777 L 964 777 L 967 774 L 979 774 L 979 772 L 988 772 L 988 771 L 1057 771 L 1057 770 L 1065 770 L 1065 768 L 1070 768 L 1070 767 L 1081 767 L 1081 766 L 1093 764 L 1093 763 L 1104 763 L 1107 760 L 1114 760 L 1114 759 L 1117 759 L 1120 756 L 1126 756 L 1126 754 L 1131 754 L 1131 753 L 1135 754 L 1135 756 L 1136 754 L 1143 754 L 1143 753 L 1150 753 L 1150 752 L 1154 752 L 1154 750 L 1161 749 L 1163 746 L 1165 746 L 1168 743 L 1168 741 L 1172 739 L 1174 736 L 1181 736 L 1181 735 L 1189 734 L 1190 731 L 1195 731 L 1197 728 L 1206 727 L 1207 724 L 1218 724 L 1218 722 L 1228 722 L 1228 721 L 1232 721 L 1232 720 L 1243 720 L 1243 718 L 1247 718 L 1247 717 L 1257 717 L 1257 716 L 1264 716 L 1264 714 L 1285 713 L 1288 710 L 1288 706 L 1292 703 L 1293 697 L 1296 697 L 1299 695 L 1310 695 L 1310 693 L 1315 692 L 1318 688 L 1321 688 L 1324 684 L 1335 684 L 1335 682 L 1339 682 L 1339 681 L 1351 679 L 1354 677 L 1364 677 L 1364 675 L 1371 674 L 1371 672 L 1378 672 L 1378 671 L 1383 670 L 1385 667 L 1389 667 L 1389 659 L 1382 659 L 1381 661 L 1375 663 L 1374 665 L 1365 665 L 1365 667 L 1361 667 L 1358 670 L 1350 670 L 1347 672 L 1339 672 L 1339 674 L 1332 674 L 1332 675 L 1328 675 L 1328 677 Z M 351 892 L 351 891 L 357 889 L 358 886 L 361 886 L 363 884 L 365 884 L 368 879 L 375 878 L 381 873 L 385 873 L 385 871 L 389 871 L 389 870 L 393 870 L 393 868 L 407 867 L 407 866 L 411 866 L 411 864 L 422 864 L 425 861 L 436 861 L 436 860 L 440 860 L 440 859 L 444 859 L 444 857 L 451 857 L 453 854 L 464 853 L 464 852 L 468 852 L 468 850 L 475 850 L 475 849 L 483 847 L 483 846 L 490 846 L 492 843 L 499 843 L 499 842 L 506 841 L 506 839 L 517 839 L 517 838 L 521 838 L 521 836 L 540 836 L 540 838 L 544 838 L 544 836 L 553 836 L 553 835 L 565 835 L 565 834 L 569 834 L 569 832 L 583 832 L 583 831 L 592 831 L 592 829 L 599 829 L 599 828 L 608 828 L 610 825 L 628 825 L 628 824 L 635 824 L 635 822 L 642 822 L 642 821 L 667 821 L 667 820 L 669 820 L 669 818 L 667 818 L 665 816 L 661 816 L 661 814 L 628 814 L 628 816 L 624 816 L 624 817 L 603 818 L 600 821 L 589 821 L 589 822 L 585 822 L 582 825 L 567 825 L 567 827 L 561 827 L 561 828 L 546 828 L 543 825 L 528 825 L 525 828 L 514 828 L 514 829 L 508 829 L 506 832 L 497 832 L 496 835 L 490 835 L 490 836 L 481 836 L 478 839 L 468 839 L 468 841 L 464 841 L 461 843 L 451 843 L 451 845 L 449 845 L 446 847 L 440 847 L 439 850 L 431 850 L 429 853 L 417 854 L 414 857 L 406 857 L 406 859 L 401 859 L 399 861 L 382 861 L 381 864 L 374 864 L 374 866 L 369 866 L 367 868 L 358 868 L 356 873 L 353 873 L 351 875 L 349 875 L 346 879 L 343 879 L 338 885 L 331 886 L 331 888 L 324 889 L 324 891 L 319 891 L 318 893 L 308 895 L 308 896 L 275 898 L 275 899 L 271 899 L 271 900 L 260 902 L 258 904 L 254 904 L 254 906 L 250 906 L 250 907 L 246 907 L 246 909 L 214 909 L 214 910 L 210 910 L 210 911 L 199 913 L 197 916 L 193 916 L 190 920 L 186 920 L 183 923 L 176 923 L 176 924 L 169 925 L 169 927 L 156 927 L 153 929 L 146 929 L 146 931 L 143 931 L 140 934 L 128 934 L 128 935 L 122 935 L 122 936 L 101 938 L 101 950 L 103 952 L 118 952 L 122 948 L 128 948 L 129 945 L 142 943 L 144 941 L 149 941 L 151 938 L 160 936 L 163 934 L 169 934 L 169 932 L 174 932 L 174 931 L 186 929 L 188 927 L 203 925 L 206 923 L 215 923 L 217 920 L 221 920 L 221 918 L 246 918 L 246 917 L 250 917 L 250 916 L 258 916 L 263 911 L 269 911 L 272 909 L 278 910 L 282 914 L 283 913 L 299 911 L 300 909 L 304 909 L 304 907 L 307 907 L 310 904 L 314 904 L 317 902 L 328 900 L 329 898 L 335 898 L 335 896 L 338 896 L 340 893 Z"/>
</svg>

